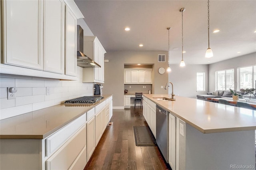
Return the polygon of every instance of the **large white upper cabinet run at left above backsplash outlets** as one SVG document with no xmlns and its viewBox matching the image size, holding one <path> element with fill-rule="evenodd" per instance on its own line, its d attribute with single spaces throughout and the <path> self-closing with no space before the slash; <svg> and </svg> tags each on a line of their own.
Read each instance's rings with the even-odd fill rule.
<svg viewBox="0 0 256 170">
<path fill-rule="evenodd" d="M 3 0 L 0 73 L 76 80 L 75 28 L 83 16 L 72 3 Z"/>
</svg>

